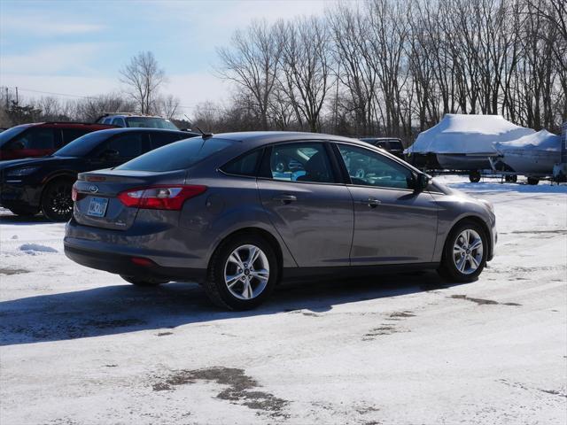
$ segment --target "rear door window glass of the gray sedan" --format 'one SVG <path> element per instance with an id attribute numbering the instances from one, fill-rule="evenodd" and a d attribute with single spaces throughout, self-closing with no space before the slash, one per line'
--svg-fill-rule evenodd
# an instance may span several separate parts
<path id="1" fill-rule="evenodd" d="M 286 143 L 272 147 L 262 174 L 287 182 L 334 183 L 330 159 L 323 143 Z M 265 175 L 268 174 L 268 175 Z"/>

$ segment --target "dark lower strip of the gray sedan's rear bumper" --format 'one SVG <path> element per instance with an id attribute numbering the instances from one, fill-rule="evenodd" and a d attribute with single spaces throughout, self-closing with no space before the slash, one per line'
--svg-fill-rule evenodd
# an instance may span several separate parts
<path id="1" fill-rule="evenodd" d="M 82 266 L 114 274 L 198 282 L 206 278 L 204 268 L 163 267 L 144 257 L 78 248 L 69 243 L 65 243 L 65 255 Z"/>

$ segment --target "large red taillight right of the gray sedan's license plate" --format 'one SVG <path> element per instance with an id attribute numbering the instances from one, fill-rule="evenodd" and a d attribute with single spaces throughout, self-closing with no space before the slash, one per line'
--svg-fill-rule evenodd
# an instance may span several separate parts
<path id="1" fill-rule="evenodd" d="M 150 186 L 120 192 L 118 198 L 123 205 L 153 210 L 181 210 L 183 203 L 206 191 L 206 186 Z"/>

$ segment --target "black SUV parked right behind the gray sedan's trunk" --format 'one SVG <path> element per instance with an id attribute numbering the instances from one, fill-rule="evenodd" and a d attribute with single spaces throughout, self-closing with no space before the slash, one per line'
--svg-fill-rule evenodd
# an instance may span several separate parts
<path id="1" fill-rule="evenodd" d="M 49 157 L 0 162 L 0 206 L 18 215 L 42 210 L 50 220 L 68 220 L 73 213 L 71 188 L 78 173 L 119 166 L 193 135 L 152 128 L 113 128 L 83 135 Z"/>

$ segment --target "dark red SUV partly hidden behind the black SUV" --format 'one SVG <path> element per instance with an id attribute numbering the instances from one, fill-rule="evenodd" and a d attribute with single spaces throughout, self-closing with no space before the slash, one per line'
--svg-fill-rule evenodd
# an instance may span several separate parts
<path id="1" fill-rule="evenodd" d="M 82 122 L 22 124 L 0 133 L 0 160 L 44 157 L 87 133 L 114 128 Z"/>

